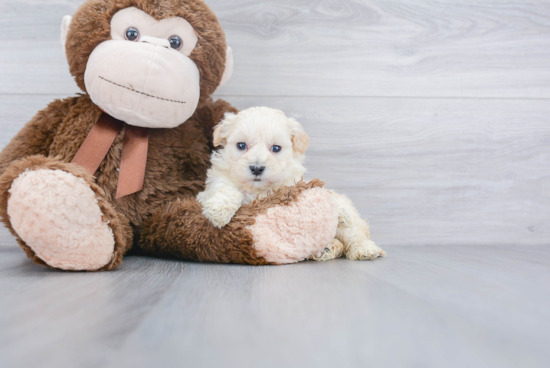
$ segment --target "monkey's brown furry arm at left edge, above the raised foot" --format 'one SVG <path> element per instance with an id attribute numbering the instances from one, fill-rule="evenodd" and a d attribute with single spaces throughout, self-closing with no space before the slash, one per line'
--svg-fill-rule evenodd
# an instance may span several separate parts
<path id="1" fill-rule="evenodd" d="M 15 160 L 38 154 L 47 156 L 55 130 L 77 100 L 78 97 L 55 100 L 36 114 L 0 153 L 0 175 Z"/>

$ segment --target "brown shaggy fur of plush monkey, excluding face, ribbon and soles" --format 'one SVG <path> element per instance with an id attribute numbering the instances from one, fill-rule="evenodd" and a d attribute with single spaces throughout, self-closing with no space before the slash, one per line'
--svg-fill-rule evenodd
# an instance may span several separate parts
<path id="1" fill-rule="evenodd" d="M 236 112 L 210 95 L 218 86 L 225 63 L 226 43 L 216 16 L 200 0 L 91 0 L 74 15 L 66 52 L 78 86 L 86 91 L 84 71 L 90 53 L 110 39 L 110 20 L 116 11 L 135 6 L 156 19 L 182 16 L 194 27 L 198 43 L 190 58 L 201 77 L 201 97 L 194 115 L 174 129 L 152 129 L 143 189 L 115 200 L 122 149 L 121 132 L 95 177 L 70 163 L 101 110 L 87 94 L 52 102 L 39 112 L 0 154 L 0 215 L 19 244 L 35 262 L 45 264 L 13 230 L 7 214 L 8 190 L 27 169 L 59 169 L 83 178 L 92 188 L 115 238 L 112 261 L 101 270 L 122 262 L 132 247 L 160 256 L 197 261 L 266 264 L 254 248 L 246 226 L 274 205 L 285 205 L 320 182 L 300 183 L 273 196 L 244 206 L 234 220 L 217 229 L 203 216 L 194 199 L 203 190 L 212 147 L 212 129 L 225 112 Z"/>

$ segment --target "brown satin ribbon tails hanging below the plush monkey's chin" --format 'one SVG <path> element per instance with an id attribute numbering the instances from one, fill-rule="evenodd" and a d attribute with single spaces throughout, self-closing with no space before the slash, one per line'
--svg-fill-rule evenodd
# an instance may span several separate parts
<path id="1" fill-rule="evenodd" d="M 117 199 L 139 192 L 143 188 L 149 146 L 149 129 L 125 124 L 123 121 L 103 113 L 72 160 L 72 162 L 84 167 L 90 174 L 95 174 L 99 165 L 107 156 L 118 133 L 124 127 L 124 140 L 122 141 L 122 155 L 120 157 L 116 191 Z"/>

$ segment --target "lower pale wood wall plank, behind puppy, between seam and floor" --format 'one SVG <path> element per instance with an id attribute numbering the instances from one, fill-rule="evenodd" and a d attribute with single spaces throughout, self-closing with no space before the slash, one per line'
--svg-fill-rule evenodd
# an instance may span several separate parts
<path id="1" fill-rule="evenodd" d="M 311 137 L 307 178 L 348 195 L 382 246 L 549 244 L 545 101 L 224 98 L 297 118 Z M 0 147 L 51 100 L 4 96 Z"/>

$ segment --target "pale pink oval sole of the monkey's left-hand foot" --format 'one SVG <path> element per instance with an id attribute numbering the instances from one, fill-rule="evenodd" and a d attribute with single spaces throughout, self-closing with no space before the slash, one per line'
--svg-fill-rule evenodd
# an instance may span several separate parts
<path id="1" fill-rule="evenodd" d="M 27 170 L 9 192 L 13 229 L 49 266 L 97 270 L 113 258 L 113 232 L 84 179 L 62 170 Z"/>

